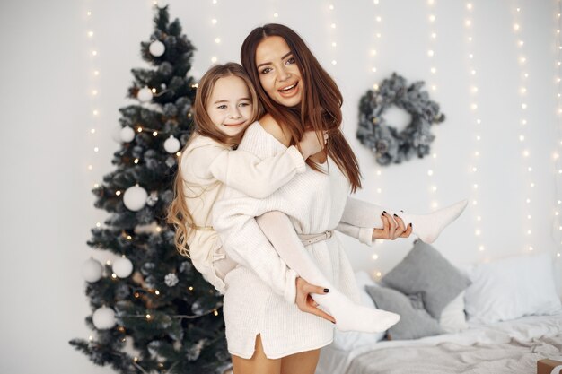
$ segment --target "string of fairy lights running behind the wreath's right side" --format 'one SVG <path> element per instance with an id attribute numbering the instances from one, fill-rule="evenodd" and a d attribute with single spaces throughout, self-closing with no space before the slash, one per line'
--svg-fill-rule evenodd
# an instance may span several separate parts
<path id="1" fill-rule="evenodd" d="M 429 22 L 429 46 L 427 48 L 427 57 L 429 58 L 429 73 L 431 80 L 429 81 L 429 89 L 432 92 L 437 91 L 437 67 L 435 66 L 435 43 L 437 39 L 436 16 L 435 16 L 435 0 L 427 0 L 427 21 Z M 437 152 L 431 153 L 431 168 L 427 170 L 427 178 L 429 183 L 429 195 L 431 196 L 431 208 L 433 210 L 439 207 L 437 200 L 437 183 L 435 182 L 435 160 Z"/>

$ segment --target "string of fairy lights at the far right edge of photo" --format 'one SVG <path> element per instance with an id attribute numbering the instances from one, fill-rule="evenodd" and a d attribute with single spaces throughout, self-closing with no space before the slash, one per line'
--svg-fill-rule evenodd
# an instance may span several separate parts
<path id="1" fill-rule="evenodd" d="M 557 110 L 556 116 L 558 119 L 558 141 L 557 141 L 557 149 L 559 150 L 562 146 L 562 44 L 560 43 L 560 33 L 562 30 L 562 1 L 555 0 L 555 7 L 556 13 L 554 15 L 554 46 L 555 46 L 555 53 L 556 53 L 556 61 L 555 61 L 555 76 L 554 76 L 554 85 L 555 85 L 555 92 L 556 92 L 556 103 L 557 103 Z M 559 197 L 559 190 L 558 187 L 560 186 L 560 178 L 562 178 L 562 166 L 560 165 L 560 153 L 559 151 L 555 151 L 552 155 L 552 161 L 554 163 L 554 169 L 556 173 L 556 183 L 555 183 L 555 192 L 556 192 L 556 204 L 553 209 L 553 221 L 555 226 L 555 234 L 554 237 L 557 240 L 558 249 L 556 251 L 557 258 L 561 258 L 562 250 L 562 222 L 560 220 L 560 204 L 562 204 L 562 200 Z"/>

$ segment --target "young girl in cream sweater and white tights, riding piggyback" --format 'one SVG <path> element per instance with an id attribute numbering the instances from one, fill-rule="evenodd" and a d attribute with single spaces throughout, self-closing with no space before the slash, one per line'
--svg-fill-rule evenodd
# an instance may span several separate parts
<path id="1" fill-rule="evenodd" d="M 305 160 L 321 152 L 324 142 L 319 142 L 316 132 L 309 131 L 303 133 L 298 147 L 289 146 L 275 156 L 260 159 L 251 152 L 233 151 L 233 146 L 241 142 L 245 129 L 261 114 L 257 93 L 238 64 L 215 65 L 209 69 L 198 85 L 194 109 L 196 130 L 181 153 L 169 222 L 176 228 L 175 241 L 180 254 L 190 257 L 206 281 L 225 293 L 224 276 L 239 262 L 225 255 L 211 223 L 211 210 L 223 196 L 224 188 L 233 187 L 255 198 L 270 196 L 296 174 L 303 173 Z M 360 236 L 364 243 L 372 243 L 373 226 L 357 228 L 354 219 L 361 217 L 342 220 L 337 230 Z M 301 240 L 310 244 L 318 238 L 298 238 L 288 218 L 279 212 L 264 213 L 258 222 L 263 224 L 266 236 L 284 260 L 275 272 L 262 276 L 268 277 L 270 282 L 277 280 L 274 291 L 294 304 L 298 275 L 320 274 L 317 265 L 299 250 Z M 390 215 L 384 217 L 382 230 L 393 230 L 396 222 L 404 226 L 398 216 L 395 219 Z M 411 230 L 410 225 L 402 237 L 408 237 Z M 287 269 L 285 263 L 294 264 L 291 267 L 298 271 Z M 327 284 L 321 285 L 326 287 Z M 332 296 L 328 289 L 321 288 L 321 292 Z M 365 308 L 336 290 L 331 292 L 333 297 L 322 299 L 325 302 L 321 302 L 321 306 L 337 314 L 336 321 L 321 310 L 315 314 L 336 322 L 341 330 L 379 332 L 398 321 L 398 316 L 393 313 Z"/>

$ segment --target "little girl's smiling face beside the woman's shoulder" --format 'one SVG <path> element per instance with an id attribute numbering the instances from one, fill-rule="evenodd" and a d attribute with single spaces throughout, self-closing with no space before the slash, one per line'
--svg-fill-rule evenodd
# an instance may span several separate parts
<path id="1" fill-rule="evenodd" d="M 240 134 L 250 125 L 252 117 L 250 91 L 237 76 L 219 78 L 206 105 L 206 112 L 225 135 Z"/>

